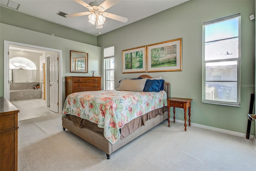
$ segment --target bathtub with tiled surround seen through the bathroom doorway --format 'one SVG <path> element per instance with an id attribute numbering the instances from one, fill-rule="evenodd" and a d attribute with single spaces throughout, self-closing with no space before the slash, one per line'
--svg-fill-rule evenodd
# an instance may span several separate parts
<path id="1" fill-rule="evenodd" d="M 10 101 L 42 98 L 42 89 L 15 89 L 10 90 Z"/>

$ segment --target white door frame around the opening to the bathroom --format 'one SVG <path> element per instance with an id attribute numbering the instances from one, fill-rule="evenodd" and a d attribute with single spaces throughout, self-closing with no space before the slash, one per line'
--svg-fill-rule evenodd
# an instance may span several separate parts
<path id="1" fill-rule="evenodd" d="M 24 48 L 36 48 L 39 50 L 45 50 L 45 51 L 54 51 L 58 53 L 59 60 L 58 60 L 58 80 L 59 80 L 59 89 L 58 89 L 58 99 L 59 99 L 59 113 L 62 112 L 62 50 L 58 49 L 52 49 L 52 48 L 45 48 L 42 46 L 35 46 L 30 44 L 23 44 L 18 42 L 11 42 L 4 40 L 4 97 L 6 99 L 10 99 L 10 84 L 9 84 L 9 70 L 10 70 L 10 64 L 9 64 L 9 46 L 23 46 Z M 46 58 L 46 57 L 45 57 Z M 47 60 L 45 60 L 47 61 Z M 47 67 L 47 65 L 46 65 Z M 47 79 L 47 76 L 46 76 Z M 48 90 L 48 87 L 46 85 L 46 91 Z M 47 96 L 47 94 L 46 94 Z M 46 97 L 47 103 L 48 103 L 48 97 Z M 46 103 L 46 104 L 47 104 Z M 50 103 L 50 102 L 49 102 Z"/>

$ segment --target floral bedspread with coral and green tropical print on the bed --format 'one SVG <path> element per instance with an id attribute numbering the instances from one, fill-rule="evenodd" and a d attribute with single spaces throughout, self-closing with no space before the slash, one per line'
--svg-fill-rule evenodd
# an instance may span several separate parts
<path id="1" fill-rule="evenodd" d="M 65 114 L 76 115 L 104 128 L 104 137 L 114 144 L 120 137 L 119 129 L 132 119 L 167 105 L 165 91 L 82 91 L 68 95 Z"/>

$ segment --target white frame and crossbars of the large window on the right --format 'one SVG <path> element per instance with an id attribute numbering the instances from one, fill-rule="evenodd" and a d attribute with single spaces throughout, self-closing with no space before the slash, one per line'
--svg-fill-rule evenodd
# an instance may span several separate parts
<path id="1" fill-rule="evenodd" d="M 238 58 L 228 58 L 228 59 L 218 59 L 218 60 L 205 60 L 205 26 L 209 24 L 215 24 L 217 22 L 223 22 L 226 20 L 231 20 L 234 18 L 238 18 Z M 231 38 L 228 38 L 231 39 Z M 217 41 L 217 40 L 215 40 Z M 212 62 L 226 62 L 226 61 L 237 61 L 237 76 L 236 76 L 236 102 L 231 101 L 220 101 L 220 100 L 210 100 L 205 99 L 206 95 L 206 82 L 228 82 L 228 81 L 207 81 L 206 80 L 206 63 Z M 234 82 L 234 81 L 230 81 Z M 215 20 L 210 20 L 203 23 L 203 35 L 202 35 L 202 103 L 211 103 L 211 104 L 218 104 L 218 105 L 230 105 L 230 106 L 238 106 L 241 105 L 241 14 L 236 13 L 229 16 L 217 18 Z"/>

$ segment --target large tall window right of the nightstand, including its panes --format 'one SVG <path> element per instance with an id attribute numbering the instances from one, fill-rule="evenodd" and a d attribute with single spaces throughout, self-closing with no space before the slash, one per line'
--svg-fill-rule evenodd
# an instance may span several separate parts
<path id="1" fill-rule="evenodd" d="M 240 106 L 240 13 L 203 23 L 202 102 Z"/>

